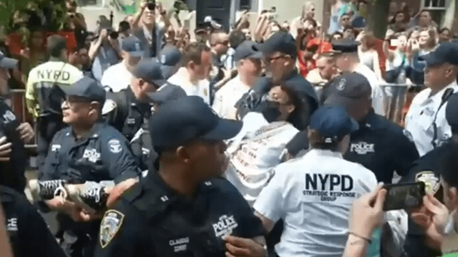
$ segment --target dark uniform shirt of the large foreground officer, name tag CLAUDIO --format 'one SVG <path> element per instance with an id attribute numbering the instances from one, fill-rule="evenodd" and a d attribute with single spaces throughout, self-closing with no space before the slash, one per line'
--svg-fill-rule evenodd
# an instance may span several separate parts
<path id="1" fill-rule="evenodd" d="M 202 183 L 190 201 L 155 171 L 124 193 L 100 228 L 97 257 L 224 257 L 224 235 L 263 235 L 260 219 L 227 180 Z"/>

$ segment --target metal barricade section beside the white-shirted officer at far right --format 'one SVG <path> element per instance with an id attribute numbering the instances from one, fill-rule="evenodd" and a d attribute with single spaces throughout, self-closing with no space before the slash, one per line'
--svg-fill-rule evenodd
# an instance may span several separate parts
<path id="1" fill-rule="evenodd" d="M 386 118 L 402 125 L 404 107 L 410 106 L 413 97 L 423 88 L 423 85 L 382 83 L 379 86 L 383 91 Z M 410 88 L 414 88 L 413 92 L 409 92 Z"/>

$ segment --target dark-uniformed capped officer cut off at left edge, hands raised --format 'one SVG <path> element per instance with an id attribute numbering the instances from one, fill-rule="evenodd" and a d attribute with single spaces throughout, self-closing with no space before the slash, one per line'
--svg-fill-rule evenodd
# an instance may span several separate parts
<path id="1" fill-rule="evenodd" d="M 31 141 L 34 132 L 29 123 L 20 123 L 2 98 L 8 93 L 9 69 L 17 63 L 0 52 L 0 184 L 24 192 L 28 159 L 24 143 Z"/>

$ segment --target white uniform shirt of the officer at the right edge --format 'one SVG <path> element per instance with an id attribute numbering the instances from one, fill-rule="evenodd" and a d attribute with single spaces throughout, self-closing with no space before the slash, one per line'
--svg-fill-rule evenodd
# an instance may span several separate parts
<path id="1" fill-rule="evenodd" d="M 439 146 L 440 143 L 452 137 L 452 129 L 445 119 L 447 103 L 438 110 L 442 102 L 442 96 L 447 88 L 453 88 L 454 92 L 457 92 L 457 82 L 453 82 L 432 96 L 430 88 L 426 88 L 418 93 L 412 100 L 412 104 L 405 117 L 405 129 L 412 135 L 420 156 L 425 155 L 434 148 L 432 145 L 434 139 L 433 123 L 436 114 L 436 145 Z"/>

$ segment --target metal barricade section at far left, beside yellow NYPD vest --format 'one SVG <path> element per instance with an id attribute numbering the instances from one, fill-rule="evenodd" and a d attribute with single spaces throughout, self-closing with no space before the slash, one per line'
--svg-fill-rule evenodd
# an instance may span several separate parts
<path id="1" fill-rule="evenodd" d="M 35 119 L 31 117 L 29 111 L 27 110 L 26 106 L 26 89 L 10 89 L 10 106 L 13 110 L 13 113 L 16 114 L 16 117 L 19 121 L 22 122 L 31 122 L 33 130 L 35 131 L 35 138 L 33 139 L 33 143 L 26 144 L 26 149 L 30 150 L 31 152 L 36 152 L 36 122 Z"/>

